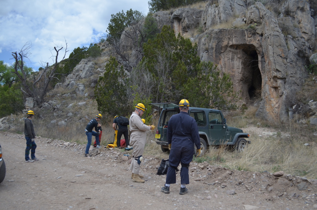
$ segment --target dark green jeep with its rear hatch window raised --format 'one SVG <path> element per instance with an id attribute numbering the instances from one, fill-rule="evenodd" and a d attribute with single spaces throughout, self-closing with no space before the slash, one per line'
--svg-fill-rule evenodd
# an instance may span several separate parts
<path id="1" fill-rule="evenodd" d="M 156 143 L 161 145 L 162 151 L 167 152 L 169 150 L 166 137 L 168 121 L 172 115 L 179 113 L 179 106 L 173 103 L 150 104 L 161 109 L 155 139 Z M 251 143 L 251 141 L 245 140 L 250 136 L 248 133 L 243 133 L 242 129 L 227 126 L 227 120 L 223 118 L 220 110 L 189 107 L 188 114 L 197 122 L 202 148 L 200 156 L 206 151 L 207 145 L 226 144 L 235 148 L 238 152 L 242 152 L 245 146 Z"/>

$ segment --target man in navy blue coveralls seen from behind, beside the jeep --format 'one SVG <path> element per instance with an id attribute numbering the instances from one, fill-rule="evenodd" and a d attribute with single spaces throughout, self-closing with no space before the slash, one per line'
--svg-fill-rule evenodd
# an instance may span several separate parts
<path id="1" fill-rule="evenodd" d="M 189 184 L 188 167 L 194 155 L 194 143 L 198 156 L 201 153 L 200 137 L 197 123 L 188 115 L 189 102 L 183 99 L 179 102 L 180 113 L 171 116 L 167 125 L 167 141 L 170 148 L 169 167 L 166 174 L 166 183 L 161 192 L 170 193 L 170 185 L 176 183 L 176 172 L 181 163 L 180 178 L 181 188 L 179 194 L 188 192 L 186 184 Z"/>

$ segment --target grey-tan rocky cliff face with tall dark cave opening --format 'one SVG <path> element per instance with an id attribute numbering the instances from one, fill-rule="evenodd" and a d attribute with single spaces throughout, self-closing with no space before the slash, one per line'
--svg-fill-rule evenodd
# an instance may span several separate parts
<path id="1" fill-rule="evenodd" d="M 186 8 L 154 16 L 160 26 L 171 25 L 182 35 L 203 26 L 205 32 L 191 38 L 198 43 L 201 60 L 231 75 L 234 88 L 241 91 L 241 104 L 261 92 L 258 117 L 288 121 L 288 108 L 307 77 L 305 65 L 316 47 L 317 22 L 309 3 L 288 0 L 276 15 L 262 3 L 219 0 L 207 3 L 204 10 Z M 213 29 L 232 18 L 236 28 Z"/>

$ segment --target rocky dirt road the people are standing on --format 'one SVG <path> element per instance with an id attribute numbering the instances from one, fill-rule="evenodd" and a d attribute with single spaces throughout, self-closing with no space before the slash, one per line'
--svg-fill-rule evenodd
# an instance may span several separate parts
<path id="1" fill-rule="evenodd" d="M 145 157 L 141 172 L 146 182 L 135 183 L 116 150 L 100 149 L 87 158 L 85 145 L 35 141 L 40 160 L 26 163 L 24 135 L 0 133 L 7 167 L 0 209 L 317 209 L 316 180 L 305 181 L 307 189 L 299 190 L 294 184 L 302 183 L 300 178 L 191 163 L 189 193 L 179 194 L 178 174 L 171 193 L 164 194 L 165 176 L 155 175 L 160 160 Z"/>

